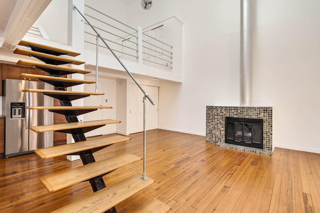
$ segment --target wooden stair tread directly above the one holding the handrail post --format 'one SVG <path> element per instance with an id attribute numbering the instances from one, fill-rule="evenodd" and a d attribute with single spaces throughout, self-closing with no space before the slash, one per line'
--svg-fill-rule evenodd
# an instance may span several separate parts
<path id="1" fill-rule="evenodd" d="M 121 154 L 74 169 L 57 172 L 40 178 L 40 181 L 48 192 L 55 192 L 96 176 L 106 174 L 125 165 L 140 161 L 141 159 L 142 158 L 131 154 Z"/>

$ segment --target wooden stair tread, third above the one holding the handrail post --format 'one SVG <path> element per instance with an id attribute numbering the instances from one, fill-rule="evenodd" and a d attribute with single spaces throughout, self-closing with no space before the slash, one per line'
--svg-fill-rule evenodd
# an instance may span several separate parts
<path id="1" fill-rule="evenodd" d="M 73 122 L 73 123 L 65 123 L 65 124 L 33 126 L 33 127 L 29 127 L 29 129 L 36 133 L 40 133 L 40 132 L 48 132 L 48 131 L 78 129 L 78 128 L 100 126 L 100 125 L 106 125 L 106 124 L 115 124 L 120 122 L 121 121 L 106 119 L 106 120 L 98 120 L 98 121 L 84 121 L 84 122 Z"/>

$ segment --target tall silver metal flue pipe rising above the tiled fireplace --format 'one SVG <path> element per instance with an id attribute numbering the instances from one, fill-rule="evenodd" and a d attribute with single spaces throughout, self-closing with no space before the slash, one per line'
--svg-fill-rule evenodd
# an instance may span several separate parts
<path id="1" fill-rule="evenodd" d="M 240 106 L 252 106 L 252 0 L 240 0 Z"/>

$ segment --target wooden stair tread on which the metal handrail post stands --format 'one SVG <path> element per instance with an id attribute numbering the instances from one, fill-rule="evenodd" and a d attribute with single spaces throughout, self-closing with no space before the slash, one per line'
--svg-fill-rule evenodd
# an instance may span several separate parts
<path id="1" fill-rule="evenodd" d="M 140 190 L 154 183 L 154 180 L 142 180 L 139 174 L 126 178 L 118 183 L 99 190 L 64 206 L 53 213 L 97 213 L 105 212 Z"/>

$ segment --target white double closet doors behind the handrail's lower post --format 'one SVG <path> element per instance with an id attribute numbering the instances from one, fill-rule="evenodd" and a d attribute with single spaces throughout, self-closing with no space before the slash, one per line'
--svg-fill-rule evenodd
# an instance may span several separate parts
<path id="1" fill-rule="evenodd" d="M 158 128 L 158 87 L 145 86 L 142 88 L 149 94 L 155 102 L 153 106 L 146 100 L 146 130 Z M 143 131 L 143 93 L 136 84 L 129 84 L 129 116 L 128 133 Z"/>

